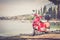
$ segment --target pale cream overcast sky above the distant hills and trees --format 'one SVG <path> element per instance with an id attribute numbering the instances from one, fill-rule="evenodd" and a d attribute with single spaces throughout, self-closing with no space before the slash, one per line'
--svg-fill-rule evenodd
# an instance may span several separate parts
<path id="1" fill-rule="evenodd" d="M 2 1 L 0 3 L 0 16 L 32 14 L 32 10 L 40 10 L 44 5 L 50 3 L 48 0 Z"/>

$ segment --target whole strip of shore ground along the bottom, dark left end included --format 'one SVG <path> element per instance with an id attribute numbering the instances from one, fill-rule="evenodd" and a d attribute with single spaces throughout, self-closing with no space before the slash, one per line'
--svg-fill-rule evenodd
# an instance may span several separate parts
<path id="1" fill-rule="evenodd" d="M 36 36 L 0 37 L 0 40 L 60 40 L 60 34 L 43 34 Z"/>

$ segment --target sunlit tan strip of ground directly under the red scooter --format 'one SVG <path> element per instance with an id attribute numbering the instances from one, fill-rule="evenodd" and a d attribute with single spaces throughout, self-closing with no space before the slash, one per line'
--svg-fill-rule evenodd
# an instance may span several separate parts
<path id="1" fill-rule="evenodd" d="M 20 38 L 60 38 L 60 34 L 43 34 L 36 36 L 21 36 Z"/>

